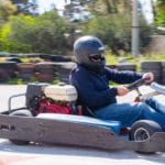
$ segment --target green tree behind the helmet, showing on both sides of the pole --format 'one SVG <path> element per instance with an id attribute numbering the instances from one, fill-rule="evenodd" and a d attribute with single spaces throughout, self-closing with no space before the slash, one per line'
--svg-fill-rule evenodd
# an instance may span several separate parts
<path id="1" fill-rule="evenodd" d="M 84 33 L 100 37 L 111 51 L 119 55 L 120 52 L 131 51 L 131 21 L 130 14 L 109 14 L 94 18 L 85 26 Z M 150 42 L 151 30 L 141 18 L 141 48 L 143 50 Z"/>

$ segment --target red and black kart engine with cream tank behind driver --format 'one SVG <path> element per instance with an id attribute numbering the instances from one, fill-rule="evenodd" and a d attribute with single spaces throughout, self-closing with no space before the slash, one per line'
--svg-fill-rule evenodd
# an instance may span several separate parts
<path id="1" fill-rule="evenodd" d="M 38 113 L 81 114 L 76 108 L 77 91 L 72 85 L 29 84 L 26 108 Z"/>

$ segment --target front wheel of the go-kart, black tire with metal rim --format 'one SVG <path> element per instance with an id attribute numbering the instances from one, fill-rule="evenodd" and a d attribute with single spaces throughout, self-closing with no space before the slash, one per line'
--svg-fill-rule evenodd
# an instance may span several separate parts
<path id="1" fill-rule="evenodd" d="M 162 132 L 161 125 L 151 120 L 140 120 L 136 121 L 129 133 L 130 141 L 145 141 L 148 140 L 155 132 Z M 153 154 L 154 152 L 142 152 L 139 153 Z"/>

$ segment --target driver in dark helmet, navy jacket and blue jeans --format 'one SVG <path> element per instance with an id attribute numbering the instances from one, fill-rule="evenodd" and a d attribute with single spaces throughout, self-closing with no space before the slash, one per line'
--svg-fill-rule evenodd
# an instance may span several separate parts
<path id="1" fill-rule="evenodd" d="M 98 118 L 120 121 L 130 127 L 138 120 L 157 122 L 165 131 L 165 113 L 163 105 L 147 98 L 144 102 L 118 103 L 117 96 L 127 95 L 130 89 L 124 84 L 147 77 L 146 84 L 153 81 L 152 73 L 118 72 L 106 67 L 105 45 L 95 36 L 81 36 L 74 44 L 77 67 L 72 72 L 70 84 L 78 91 L 78 101 L 88 107 Z M 123 84 L 109 86 L 110 81 Z"/>

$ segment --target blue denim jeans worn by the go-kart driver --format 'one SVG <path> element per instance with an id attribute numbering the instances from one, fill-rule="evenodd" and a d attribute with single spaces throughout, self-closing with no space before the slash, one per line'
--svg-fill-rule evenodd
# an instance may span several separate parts
<path id="1" fill-rule="evenodd" d="M 120 121 L 122 127 L 130 127 L 136 120 L 153 120 L 165 131 L 165 106 L 154 98 L 144 102 L 111 103 L 95 112 L 98 118 Z"/>

